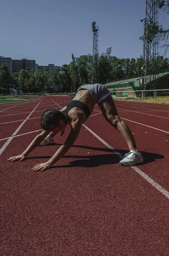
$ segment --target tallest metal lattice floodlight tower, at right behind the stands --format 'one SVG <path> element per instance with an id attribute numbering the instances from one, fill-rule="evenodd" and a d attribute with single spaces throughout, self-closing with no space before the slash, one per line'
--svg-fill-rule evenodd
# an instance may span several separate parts
<path id="1" fill-rule="evenodd" d="M 146 0 L 146 16 L 140 19 L 144 21 L 144 44 L 143 44 L 143 76 L 144 90 L 158 87 L 158 6 L 156 0 Z"/>

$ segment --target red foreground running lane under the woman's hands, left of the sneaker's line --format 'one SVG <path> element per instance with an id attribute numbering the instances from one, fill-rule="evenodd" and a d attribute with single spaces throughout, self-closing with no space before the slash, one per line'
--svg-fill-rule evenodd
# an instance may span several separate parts
<path id="1" fill-rule="evenodd" d="M 57 136 L 56 145 L 36 148 L 24 162 L 6 158 L 13 146 L 22 152 L 33 134 L 14 138 L 4 151 L 4 255 L 167 256 L 168 199 L 130 167 L 120 166 L 119 157 L 85 128 L 50 170 L 31 171 L 68 133 Z"/>

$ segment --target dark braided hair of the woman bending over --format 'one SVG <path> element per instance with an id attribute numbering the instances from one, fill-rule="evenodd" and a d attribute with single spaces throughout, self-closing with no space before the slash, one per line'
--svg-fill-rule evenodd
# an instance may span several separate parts
<path id="1" fill-rule="evenodd" d="M 55 128 L 60 126 L 59 125 L 60 120 L 63 120 L 63 122 L 67 124 L 67 118 L 65 114 L 63 114 L 61 111 L 56 110 L 54 108 L 47 109 L 46 111 L 43 112 L 41 116 L 41 128 L 44 131 L 52 131 Z M 63 129 L 61 136 L 63 135 L 64 131 L 65 131 L 65 128 Z"/>

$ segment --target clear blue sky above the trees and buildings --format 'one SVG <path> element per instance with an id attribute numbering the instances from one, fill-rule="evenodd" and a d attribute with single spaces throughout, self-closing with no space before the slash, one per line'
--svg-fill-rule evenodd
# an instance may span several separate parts
<path id="1" fill-rule="evenodd" d="M 62 66 L 92 54 L 92 22 L 99 26 L 99 53 L 117 58 L 143 55 L 146 0 L 1 0 L 0 55 Z M 169 26 L 160 12 L 159 23 Z M 169 57 L 167 53 L 166 57 Z"/>

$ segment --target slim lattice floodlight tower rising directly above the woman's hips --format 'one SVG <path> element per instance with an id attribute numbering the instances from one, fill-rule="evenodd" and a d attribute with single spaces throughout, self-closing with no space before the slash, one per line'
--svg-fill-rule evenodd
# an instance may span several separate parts
<path id="1" fill-rule="evenodd" d="M 92 60 L 92 84 L 99 82 L 99 26 L 92 23 L 93 31 L 93 60 Z"/>

